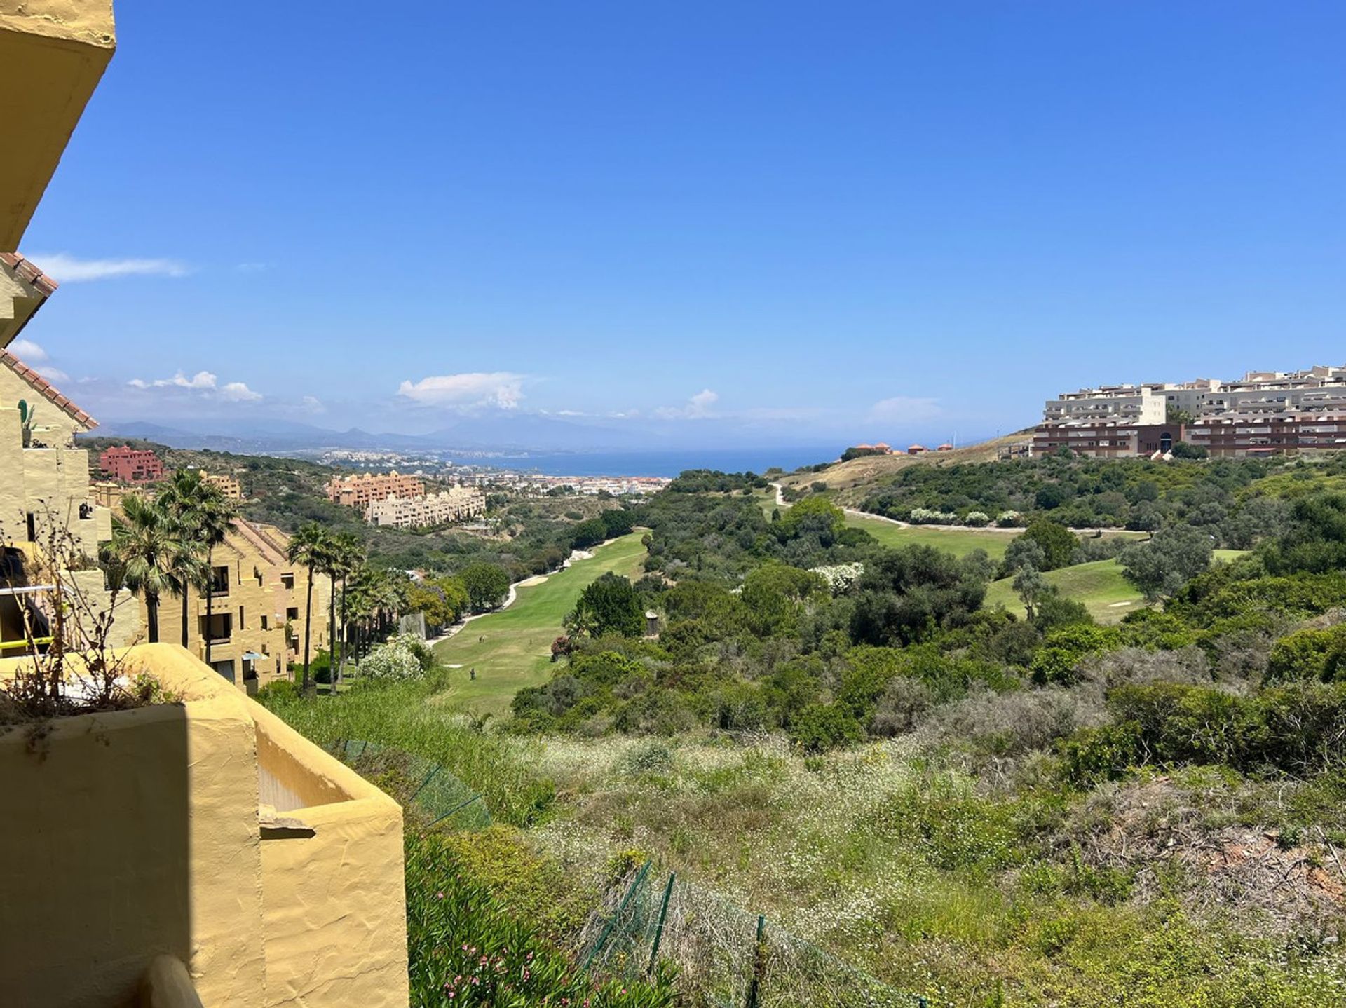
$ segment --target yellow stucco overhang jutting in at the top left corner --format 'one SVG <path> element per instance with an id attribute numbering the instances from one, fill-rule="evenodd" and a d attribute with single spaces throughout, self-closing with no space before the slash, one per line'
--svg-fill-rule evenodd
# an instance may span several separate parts
<path id="1" fill-rule="evenodd" d="M 0 252 L 13 252 L 116 46 L 110 0 L 0 0 Z M 58 277 L 59 279 L 59 277 Z"/>

